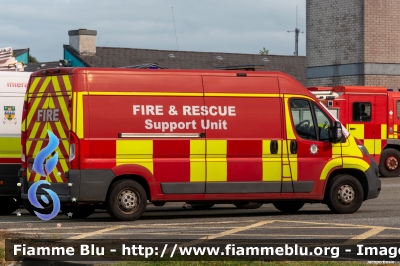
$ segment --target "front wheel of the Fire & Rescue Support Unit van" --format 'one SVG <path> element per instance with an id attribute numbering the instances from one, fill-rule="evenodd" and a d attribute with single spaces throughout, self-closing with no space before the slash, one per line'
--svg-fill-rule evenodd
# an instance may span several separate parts
<path id="1" fill-rule="evenodd" d="M 333 177 L 325 193 L 326 203 L 334 213 L 354 213 L 364 200 L 364 190 L 360 181 L 351 175 Z"/>

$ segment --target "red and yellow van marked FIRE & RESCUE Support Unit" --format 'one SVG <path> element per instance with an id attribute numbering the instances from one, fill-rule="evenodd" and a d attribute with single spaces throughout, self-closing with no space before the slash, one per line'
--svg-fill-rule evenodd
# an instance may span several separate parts
<path id="1" fill-rule="evenodd" d="M 353 213 L 381 190 L 362 144 L 280 72 L 47 69 L 23 118 L 22 198 L 47 180 L 74 215 L 135 220 L 148 200 Z"/>

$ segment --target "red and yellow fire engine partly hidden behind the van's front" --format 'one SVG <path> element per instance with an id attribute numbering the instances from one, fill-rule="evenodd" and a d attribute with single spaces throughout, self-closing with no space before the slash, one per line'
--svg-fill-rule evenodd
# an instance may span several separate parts
<path id="1" fill-rule="evenodd" d="M 382 176 L 400 175 L 400 93 L 384 87 L 336 86 L 309 90 L 379 162 Z"/>

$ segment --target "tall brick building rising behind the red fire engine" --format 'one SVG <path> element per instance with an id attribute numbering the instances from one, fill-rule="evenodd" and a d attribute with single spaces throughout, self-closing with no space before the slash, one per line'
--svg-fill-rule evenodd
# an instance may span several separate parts
<path id="1" fill-rule="evenodd" d="M 400 88 L 399 0 L 306 0 L 307 86 Z"/>

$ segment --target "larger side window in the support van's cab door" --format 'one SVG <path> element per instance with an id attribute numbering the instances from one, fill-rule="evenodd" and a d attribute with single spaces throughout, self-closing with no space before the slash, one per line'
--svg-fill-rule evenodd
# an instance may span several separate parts
<path id="1" fill-rule="evenodd" d="M 310 102 L 307 100 L 290 100 L 290 111 L 293 124 L 299 137 L 316 140 L 317 134 L 314 127 L 314 119 L 311 113 Z"/>

